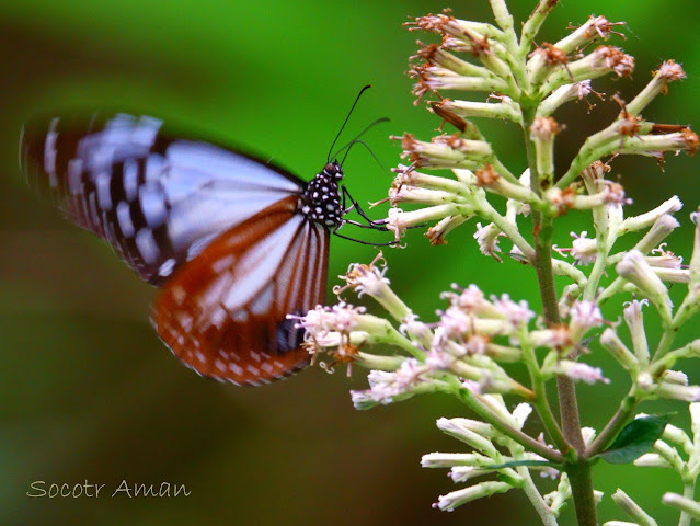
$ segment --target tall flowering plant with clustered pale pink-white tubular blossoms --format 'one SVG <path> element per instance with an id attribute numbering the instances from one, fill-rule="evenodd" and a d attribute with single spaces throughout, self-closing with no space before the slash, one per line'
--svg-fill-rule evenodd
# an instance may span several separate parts
<path id="1" fill-rule="evenodd" d="M 553 117 L 556 110 L 586 100 L 590 112 L 595 105 L 587 99 L 604 100 L 593 88 L 595 79 L 626 78 L 634 68 L 634 58 L 608 42 L 621 36 L 621 23 L 604 16 L 590 16 L 559 42 L 533 45 L 556 3 L 540 0 L 520 34 L 503 0 L 491 0 L 495 24 L 460 20 L 450 11 L 406 24 L 410 31 L 439 37 L 436 43 L 417 42 L 409 75 L 415 80 L 416 105 L 427 100 L 427 110 L 443 126 L 439 135 L 427 139 L 410 133 L 392 137 L 401 144 L 404 163 L 393 169 L 395 179 L 382 199 L 391 204 L 383 224 L 397 244 L 412 227 L 429 225 L 426 237 L 439 245 L 448 235 L 455 238 L 458 227 L 472 225 L 482 254 L 504 265 L 529 265 L 539 285 L 541 312 L 507 294 L 486 294 L 475 284 L 452 285 L 443 294 L 446 304 L 436 318 L 423 321 L 392 289 L 380 255 L 370 264 L 351 265 L 342 276 L 345 285 L 335 293 L 338 298 L 346 293 L 370 298 L 385 315 L 341 298 L 336 306 L 319 307 L 297 322 L 307 330 L 314 355 L 330 353 L 335 362 L 352 361 L 370 369 L 368 388 L 352 392 L 356 408 L 439 391 L 457 397 L 477 414 L 479 420 L 438 421 L 440 430 L 473 450 L 423 458 L 423 466 L 448 467 L 452 480 L 468 483 L 440 496 L 438 508 L 451 511 L 515 488 L 525 492 L 547 526 L 558 524 L 570 500 L 579 526 L 594 526 L 603 496 L 592 483 L 595 460 L 632 461 L 663 431 L 663 425 L 652 425 L 654 419 L 633 421 L 636 407 L 655 398 L 700 401 L 700 387 L 676 367 L 681 358 L 700 357 L 700 339 L 676 342 L 679 328 L 700 311 L 700 216 L 690 214 L 695 249 L 684 264 L 667 244 L 680 227 L 674 217 L 682 208 L 680 199 L 670 197 L 640 215 L 627 213 L 632 201 L 612 174 L 613 161 L 621 155 L 640 155 L 662 162 L 666 152 L 695 153 L 700 142 L 688 126 L 642 116 L 672 82 L 686 77 L 680 65 L 667 60 L 629 102 L 615 95 L 617 117 L 590 135 L 569 165 L 555 167 L 555 139 L 567 132 Z M 480 101 L 467 100 L 480 94 Z M 477 118 L 507 119 L 521 127 L 527 170 L 513 173 L 502 162 L 472 121 Z M 454 129 L 443 132 L 445 126 Z M 433 171 L 437 172 L 426 173 Z M 561 241 L 554 244 L 553 225 L 565 214 L 586 215 L 590 226 L 572 232 L 571 245 L 561 247 Z M 561 279 L 555 282 L 555 276 Z M 678 284 L 682 295 L 677 305 L 669 296 L 670 284 Z M 606 319 L 600 306 L 613 297 L 624 307 Z M 650 309 L 662 331 L 658 341 L 647 338 L 650 322 L 643 310 Z M 376 344 L 394 352 L 376 353 Z M 576 385 L 607 389 L 609 375 L 595 365 L 601 352 L 610 353 L 629 375 L 630 386 L 596 434 L 581 426 Z M 548 387 L 553 382 L 560 418 L 550 404 Z M 506 400 L 517 403 L 513 411 Z M 524 431 L 531 411 L 541 427 L 535 435 Z M 699 411 L 693 403 L 695 434 Z M 664 445 L 668 442 L 690 459 L 679 460 L 675 449 Z M 700 472 L 696 442 L 695 435 L 691 441 L 680 430 L 666 427 L 653 453 L 639 458 L 638 465 L 670 467 L 689 488 Z M 556 490 L 540 493 L 530 478 L 532 470 L 555 478 Z M 497 480 L 477 480 L 489 474 Z M 688 510 L 700 505 L 687 493 L 665 499 L 692 515 Z M 612 499 L 634 524 L 653 524 L 622 490 Z M 688 524 L 686 515 L 680 524 Z"/>

